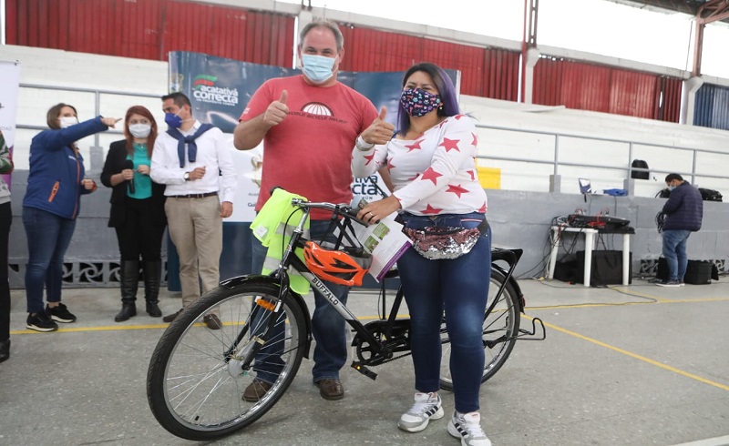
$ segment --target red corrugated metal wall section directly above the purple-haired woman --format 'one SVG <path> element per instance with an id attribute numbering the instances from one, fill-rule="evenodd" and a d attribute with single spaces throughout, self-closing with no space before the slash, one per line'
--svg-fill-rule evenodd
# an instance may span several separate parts
<path id="1" fill-rule="evenodd" d="M 418 62 L 433 62 L 461 71 L 461 93 L 516 101 L 519 53 L 340 26 L 344 35 L 344 71 L 405 71 Z"/>

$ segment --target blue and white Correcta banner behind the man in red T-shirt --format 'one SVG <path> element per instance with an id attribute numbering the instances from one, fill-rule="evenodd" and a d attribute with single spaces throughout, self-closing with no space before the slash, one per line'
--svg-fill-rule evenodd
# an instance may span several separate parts
<path id="1" fill-rule="evenodd" d="M 293 76 L 301 70 L 280 66 L 264 66 L 200 53 L 173 51 L 169 53 L 169 91 L 181 91 L 190 96 L 193 116 L 201 122 L 219 127 L 232 134 L 246 104 L 268 79 Z M 447 70 L 459 85 L 460 73 Z M 403 72 L 340 72 L 337 79 L 366 96 L 380 109 L 387 108 L 386 120 L 395 124 L 402 92 Z M 458 91 L 458 87 L 457 87 Z M 263 159 L 262 146 L 239 151 L 232 148 L 238 170 L 238 189 L 233 203 L 233 215 L 226 221 L 250 222 L 260 188 Z M 382 198 L 385 184 L 379 175 L 356 178 L 352 184 L 355 198 L 369 201 Z"/>

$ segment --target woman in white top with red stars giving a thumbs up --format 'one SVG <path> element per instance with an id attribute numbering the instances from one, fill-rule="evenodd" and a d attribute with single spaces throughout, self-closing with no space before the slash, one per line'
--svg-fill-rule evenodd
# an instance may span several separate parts
<path id="1" fill-rule="evenodd" d="M 437 235 L 438 228 L 459 228 L 470 241 L 470 246 L 464 242 L 435 253 L 411 247 L 397 261 L 410 311 L 416 374 L 415 404 L 397 426 L 423 431 L 428 421 L 444 415 L 437 391 L 445 310 L 456 406 L 447 431 L 464 445 L 490 445 L 478 412 L 491 232 L 485 215 L 486 192 L 477 178 L 476 126 L 471 117 L 460 113 L 456 89 L 447 74 L 428 63 L 406 72 L 395 137 L 384 115 L 383 111 L 358 138 L 352 167 L 355 177 L 388 167 L 394 191 L 367 204 L 358 217 L 376 223 L 399 212 L 406 233 L 413 238 L 443 237 Z"/>

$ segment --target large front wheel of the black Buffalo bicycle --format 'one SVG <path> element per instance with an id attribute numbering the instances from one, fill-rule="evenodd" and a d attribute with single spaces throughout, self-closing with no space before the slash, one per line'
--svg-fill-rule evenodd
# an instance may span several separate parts
<path id="1" fill-rule="evenodd" d="M 253 303 L 266 299 L 268 309 Z M 261 300 L 260 300 L 261 301 Z M 242 370 L 245 347 L 252 345 L 268 316 L 269 303 L 278 302 L 278 287 L 251 282 L 232 289 L 217 288 L 185 309 L 160 338 L 147 375 L 149 408 L 159 424 L 180 438 L 193 441 L 218 439 L 240 431 L 269 411 L 288 389 L 301 365 L 309 333 L 298 301 L 283 299 L 282 336 L 269 345 L 282 347 L 283 369 L 260 400 L 248 402 L 242 393 L 255 378 L 255 361 Z M 221 329 L 208 329 L 200 318 L 210 310 L 221 315 Z M 253 315 L 258 315 L 254 318 Z M 239 339 L 240 341 L 236 341 Z M 233 346 L 236 346 L 233 348 Z M 234 355 L 226 355 L 234 351 Z M 237 356 L 236 355 L 239 355 Z M 257 359 L 261 359 L 259 353 Z M 262 360 L 262 362 L 265 362 Z"/>

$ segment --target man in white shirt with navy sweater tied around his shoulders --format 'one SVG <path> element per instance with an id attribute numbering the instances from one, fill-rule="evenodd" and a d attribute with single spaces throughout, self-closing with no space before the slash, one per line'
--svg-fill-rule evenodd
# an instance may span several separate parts
<path id="1" fill-rule="evenodd" d="M 150 177 L 167 185 L 165 213 L 169 237 L 180 256 L 182 307 L 218 286 L 222 251 L 222 218 L 233 211 L 238 182 L 230 148 L 221 130 L 192 117 L 190 99 L 182 93 L 162 96 L 169 129 L 160 133 L 152 151 Z M 182 312 L 165 316 L 171 322 Z M 220 329 L 219 315 L 203 318 Z"/>

